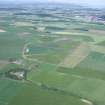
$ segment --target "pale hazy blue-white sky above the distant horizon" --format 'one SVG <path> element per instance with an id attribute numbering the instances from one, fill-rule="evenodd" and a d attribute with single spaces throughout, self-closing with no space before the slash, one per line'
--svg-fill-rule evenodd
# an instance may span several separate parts
<path id="1" fill-rule="evenodd" d="M 60 2 L 60 3 L 74 3 L 93 7 L 105 7 L 105 0 L 0 0 L 2 1 L 12 1 L 12 2 Z"/>

